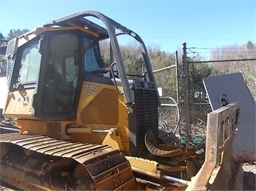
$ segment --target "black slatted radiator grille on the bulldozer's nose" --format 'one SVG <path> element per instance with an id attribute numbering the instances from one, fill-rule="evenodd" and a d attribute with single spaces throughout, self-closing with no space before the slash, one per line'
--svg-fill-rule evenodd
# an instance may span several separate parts
<path id="1" fill-rule="evenodd" d="M 145 151 L 144 138 L 148 129 L 153 131 L 154 137 L 158 141 L 157 90 L 154 89 L 154 86 L 150 87 L 137 87 L 135 89 L 136 121 L 138 127 L 137 149 L 139 154 Z"/>

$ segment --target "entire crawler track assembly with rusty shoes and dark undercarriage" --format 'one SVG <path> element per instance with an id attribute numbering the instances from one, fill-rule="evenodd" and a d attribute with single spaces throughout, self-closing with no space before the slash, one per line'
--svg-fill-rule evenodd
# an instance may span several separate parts
<path id="1" fill-rule="evenodd" d="M 1 180 L 22 190 L 132 190 L 130 163 L 108 145 L 0 135 Z"/>

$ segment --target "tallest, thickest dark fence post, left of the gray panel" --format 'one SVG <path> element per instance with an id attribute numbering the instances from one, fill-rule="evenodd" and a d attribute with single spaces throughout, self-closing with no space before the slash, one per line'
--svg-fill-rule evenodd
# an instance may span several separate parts
<path id="1" fill-rule="evenodd" d="M 189 108 L 189 67 L 187 62 L 187 47 L 183 43 L 183 92 L 184 92 L 184 119 L 185 119 L 185 134 L 186 146 L 189 145 L 190 140 L 190 108 Z"/>

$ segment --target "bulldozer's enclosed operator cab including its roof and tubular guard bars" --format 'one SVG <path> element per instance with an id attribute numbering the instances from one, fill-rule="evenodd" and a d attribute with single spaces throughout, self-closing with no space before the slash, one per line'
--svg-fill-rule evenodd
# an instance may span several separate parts
<path id="1" fill-rule="evenodd" d="M 100 20 L 105 28 L 87 17 Z M 8 103 L 5 113 L 17 116 L 20 112 L 24 117 L 45 119 L 74 119 L 82 81 L 88 78 L 105 84 L 112 81 L 109 84 L 114 84 L 117 94 L 124 93 L 126 105 L 132 111 L 135 98 L 130 88 L 132 80 L 127 77 L 117 40 L 120 35 L 129 35 L 138 41 L 147 81 L 155 84 L 142 39 L 97 11 L 82 11 L 53 20 L 8 43 L 8 86 L 20 101 Z M 99 48 L 99 42 L 106 39 L 109 39 L 111 46 L 108 69 L 103 66 Z M 109 78 L 99 77 L 103 74 Z M 139 78 L 145 80 L 142 74 Z M 122 87 L 121 91 L 118 86 Z M 96 90 L 97 87 L 91 85 L 88 88 Z M 28 104 L 30 107 L 26 110 L 19 107 Z"/>

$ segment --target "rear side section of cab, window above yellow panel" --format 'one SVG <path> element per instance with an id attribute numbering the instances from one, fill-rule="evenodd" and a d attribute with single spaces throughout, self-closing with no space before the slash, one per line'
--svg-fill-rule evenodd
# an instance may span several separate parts
<path id="1" fill-rule="evenodd" d="M 7 95 L 4 114 L 7 116 L 31 116 L 34 113 L 32 102 L 39 74 L 41 54 L 39 38 L 17 49 L 11 72 L 11 83 Z"/>

